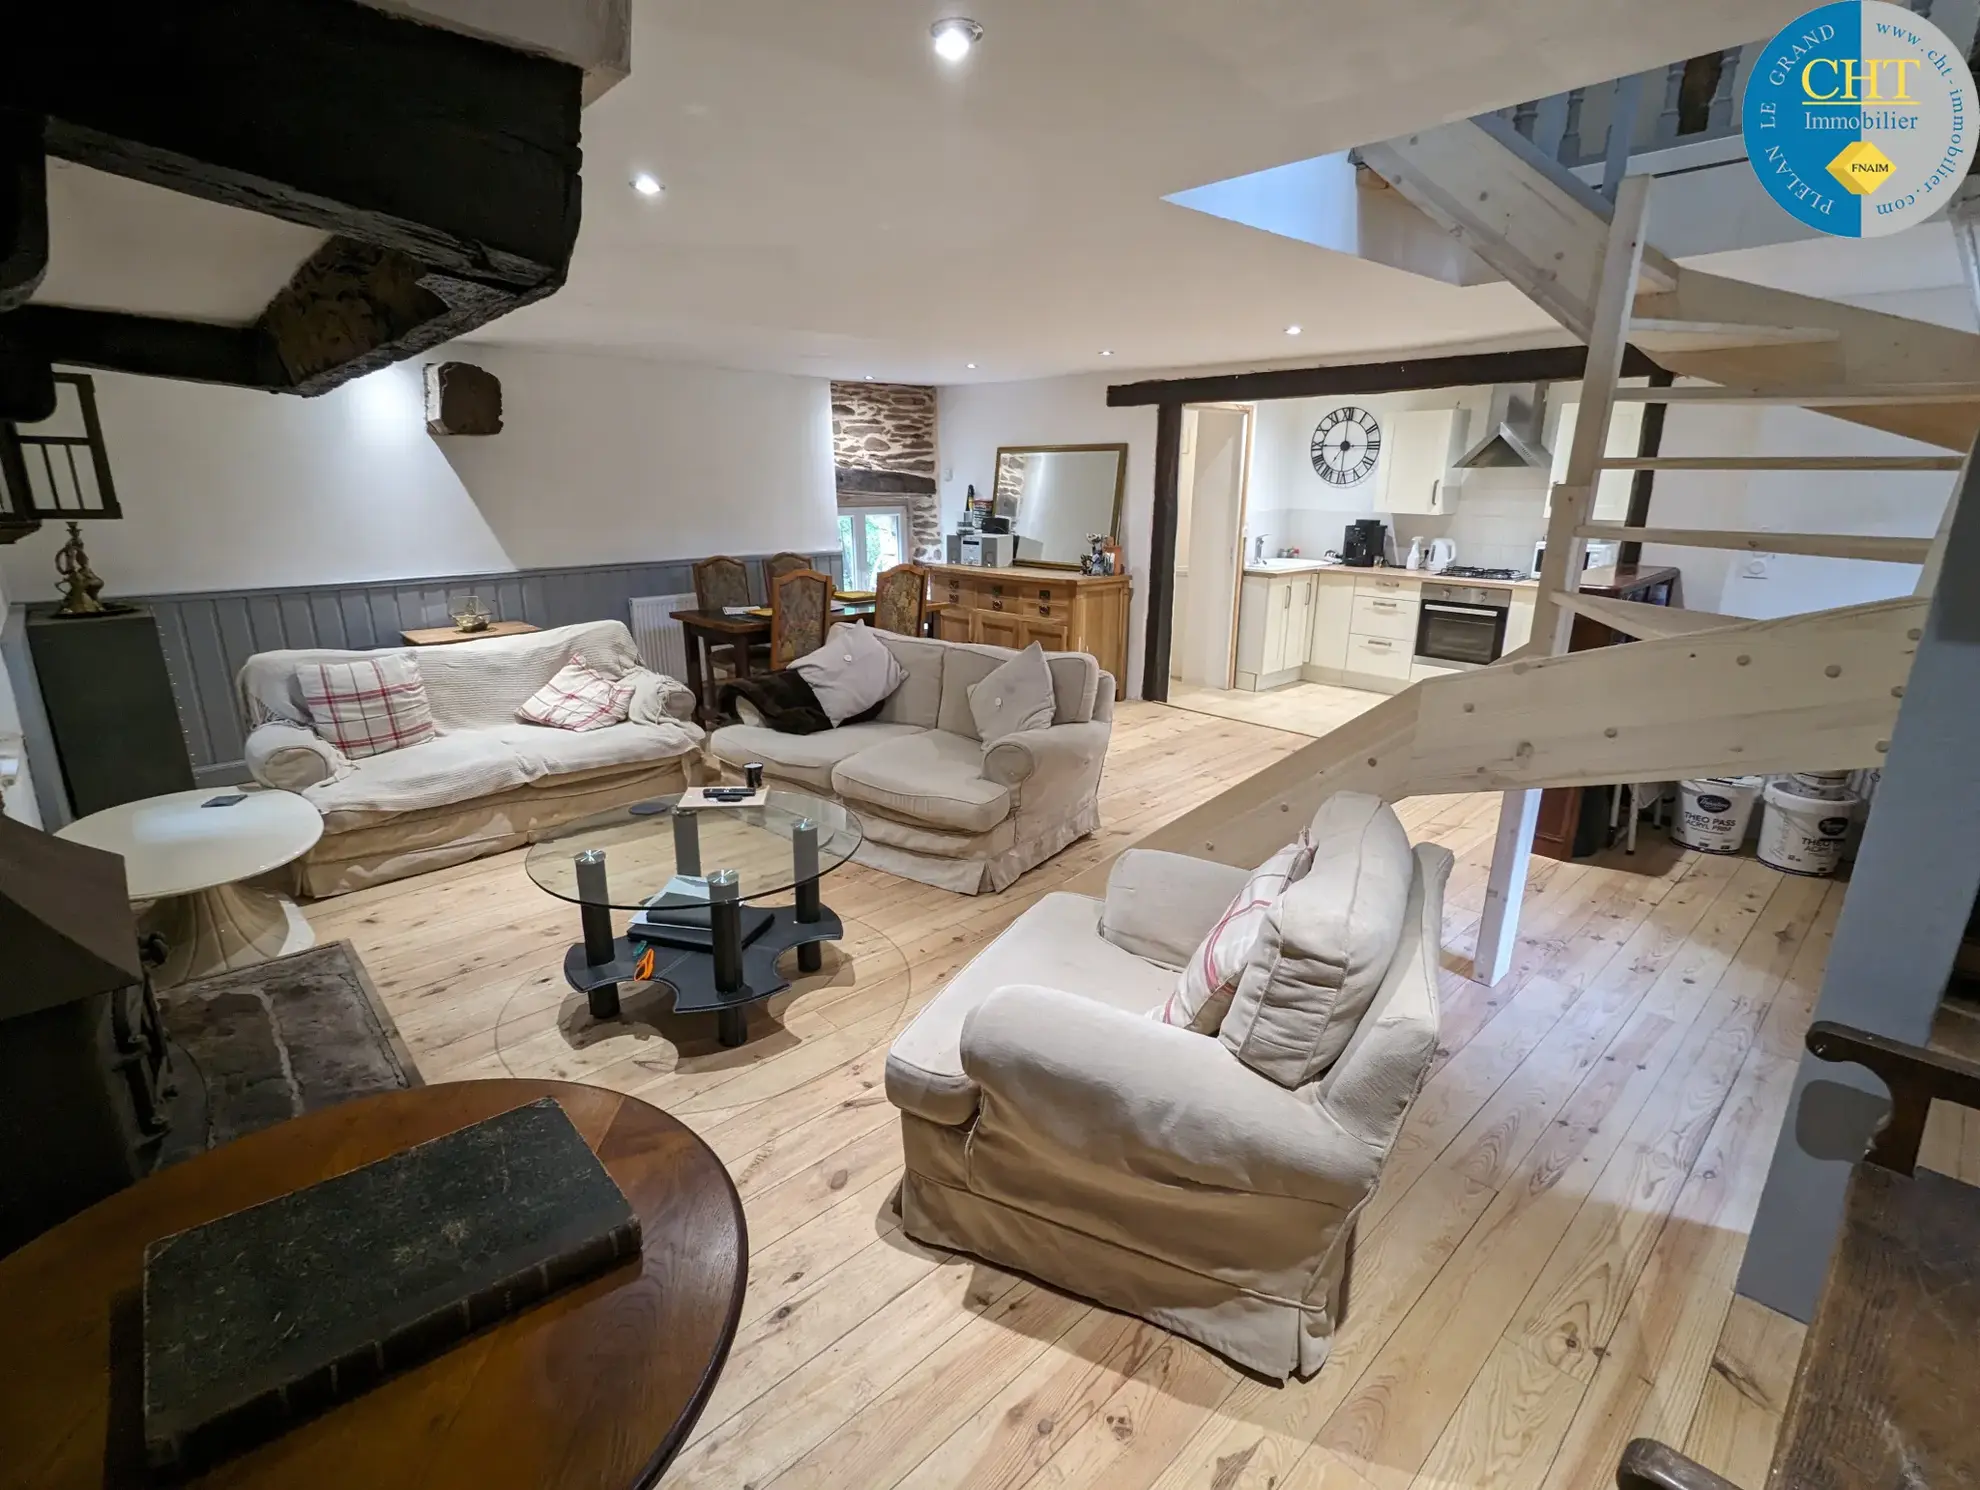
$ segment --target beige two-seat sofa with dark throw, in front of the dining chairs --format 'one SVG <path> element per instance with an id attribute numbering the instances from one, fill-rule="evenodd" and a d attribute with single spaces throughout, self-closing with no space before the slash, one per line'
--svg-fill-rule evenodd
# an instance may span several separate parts
<path id="1" fill-rule="evenodd" d="M 1051 726 L 984 750 L 968 691 L 1014 653 L 875 631 L 903 681 L 867 724 L 778 734 L 725 724 L 709 754 L 725 776 L 762 762 L 772 784 L 838 797 L 865 829 L 857 859 L 944 890 L 1002 890 L 1101 825 L 1113 677 L 1087 653 L 1047 653 Z"/>

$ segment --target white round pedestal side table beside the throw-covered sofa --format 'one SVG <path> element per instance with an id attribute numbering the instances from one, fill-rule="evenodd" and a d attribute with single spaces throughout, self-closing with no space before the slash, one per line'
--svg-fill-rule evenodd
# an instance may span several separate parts
<path id="1" fill-rule="evenodd" d="M 208 805 L 234 795 L 232 805 Z M 293 900 L 242 885 L 301 859 L 323 837 L 323 813 L 293 792 L 172 792 L 89 813 L 55 837 L 125 861 L 131 900 L 152 902 L 143 926 L 168 948 L 156 983 L 249 968 L 317 942 Z"/>

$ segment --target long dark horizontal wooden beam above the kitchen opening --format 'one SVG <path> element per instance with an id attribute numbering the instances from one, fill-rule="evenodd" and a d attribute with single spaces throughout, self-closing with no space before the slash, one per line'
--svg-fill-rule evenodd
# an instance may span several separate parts
<path id="1" fill-rule="evenodd" d="M 1586 346 L 1540 346 L 1523 352 L 1467 352 L 1463 356 L 1412 356 L 1394 362 L 1348 362 L 1327 368 L 1275 368 L 1226 372 L 1208 378 L 1150 378 L 1107 390 L 1111 408 L 1150 404 L 1253 404 L 1265 398 L 1346 398 L 1400 394 L 1416 388 L 1471 388 L 1509 382 L 1570 382 L 1588 366 Z M 1657 370 L 1637 348 L 1624 352 L 1622 376 L 1647 378 Z"/>

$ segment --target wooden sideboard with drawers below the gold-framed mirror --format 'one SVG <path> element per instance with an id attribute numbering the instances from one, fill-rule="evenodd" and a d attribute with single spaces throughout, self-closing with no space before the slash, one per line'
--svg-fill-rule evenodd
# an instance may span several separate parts
<path id="1" fill-rule="evenodd" d="M 1085 651 L 1113 673 L 1115 698 L 1127 697 L 1129 576 L 972 564 L 931 564 L 929 574 L 929 598 L 948 602 L 937 621 L 942 641 Z"/>

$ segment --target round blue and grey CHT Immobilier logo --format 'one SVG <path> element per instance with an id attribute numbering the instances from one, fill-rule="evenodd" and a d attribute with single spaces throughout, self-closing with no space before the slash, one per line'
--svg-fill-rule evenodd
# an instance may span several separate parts
<path id="1" fill-rule="evenodd" d="M 1925 222 L 1966 176 L 1974 79 L 1903 6 L 1843 0 L 1766 44 L 1746 77 L 1746 154 L 1812 228 L 1879 237 Z"/>

